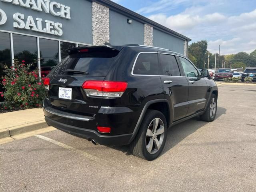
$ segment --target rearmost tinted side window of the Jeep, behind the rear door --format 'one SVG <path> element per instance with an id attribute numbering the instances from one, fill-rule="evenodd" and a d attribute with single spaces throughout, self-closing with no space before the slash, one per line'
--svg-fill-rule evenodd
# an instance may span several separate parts
<path id="1" fill-rule="evenodd" d="M 158 54 L 141 53 L 137 58 L 133 73 L 139 75 L 158 75 Z"/>

